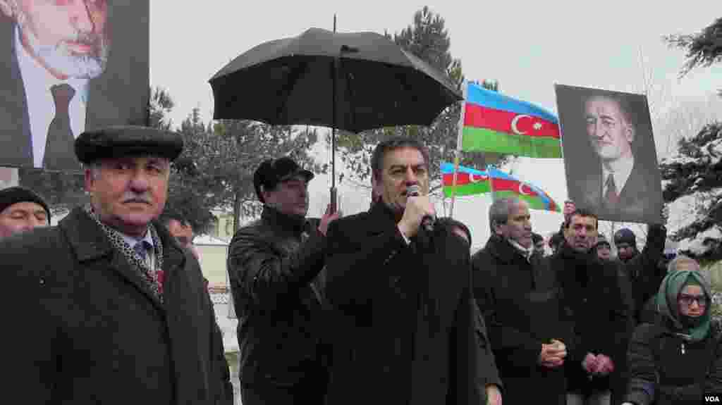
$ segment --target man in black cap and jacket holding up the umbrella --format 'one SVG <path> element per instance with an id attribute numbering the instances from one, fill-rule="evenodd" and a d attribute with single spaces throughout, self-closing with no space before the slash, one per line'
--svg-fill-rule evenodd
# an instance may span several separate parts
<path id="1" fill-rule="evenodd" d="M 241 398 L 245 405 L 321 404 L 327 373 L 321 347 L 326 230 L 338 213 L 307 221 L 313 173 L 288 157 L 253 174 L 264 210 L 235 233 L 230 276 L 238 316 Z"/>

